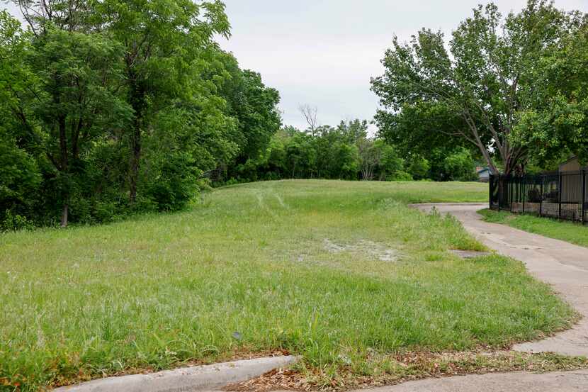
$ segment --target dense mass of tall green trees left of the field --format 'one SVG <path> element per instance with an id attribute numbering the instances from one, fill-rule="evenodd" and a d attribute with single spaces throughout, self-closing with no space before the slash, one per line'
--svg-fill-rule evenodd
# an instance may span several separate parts
<path id="1" fill-rule="evenodd" d="M 0 218 L 179 210 L 204 177 L 259 157 L 281 125 L 278 91 L 215 43 L 230 28 L 220 1 L 23 10 L 27 31 L 0 13 Z"/>

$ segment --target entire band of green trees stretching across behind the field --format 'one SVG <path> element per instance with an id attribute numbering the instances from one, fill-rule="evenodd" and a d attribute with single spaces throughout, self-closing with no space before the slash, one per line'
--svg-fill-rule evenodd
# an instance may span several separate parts
<path id="1" fill-rule="evenodd" d="M 219 0 L 15 0 L 0 13 L 0 226 L 183 208 L 242 181 L 475 179 L 588 162 L 588 18 L 545 0 L 478 6 L 446 40 L 395 38 L 374 121 L 283 126 L 241 69 Z"/>

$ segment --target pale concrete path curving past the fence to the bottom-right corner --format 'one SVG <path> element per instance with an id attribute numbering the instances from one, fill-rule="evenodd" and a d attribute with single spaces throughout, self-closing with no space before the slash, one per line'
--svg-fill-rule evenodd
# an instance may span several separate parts
<path id="1" fill-rule="evenodd" d="M 437 208 L 451 213 L 466 230 L 487 247 L 519 259 L 528 271 L 547 282 L 576 308 L 583 318 L 571 330 L 539 342 L 516 345 L 521 352 L 557 352 L 588 356 L 588 249 L 509 228 L 485 223 L 476 211 L 482 203 L 441 203 L 414 206 L 422 211 Z M 533 374 L 472 374 L 447 379 L 426 379 L 397 386 L 372 389 L 371 392 L 576 392 L 588 391 L 588 370 Z"/>

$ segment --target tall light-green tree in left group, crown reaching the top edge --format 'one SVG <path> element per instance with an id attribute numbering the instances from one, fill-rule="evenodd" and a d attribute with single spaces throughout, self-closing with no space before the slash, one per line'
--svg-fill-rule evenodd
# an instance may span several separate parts
<path id="1" fill-rule="evenodd" d="M 206 50 L 216 49 L 214 35 L 228 37 L 230 26 L 220 1 L 105 0 L 96 11 L 97 28 L 125 45 L 125 85 L 133 110 L 129 198 L 135 202 L 149 116 L 176 100 L 193 101 L 200 87 L 195 66 Z"/>

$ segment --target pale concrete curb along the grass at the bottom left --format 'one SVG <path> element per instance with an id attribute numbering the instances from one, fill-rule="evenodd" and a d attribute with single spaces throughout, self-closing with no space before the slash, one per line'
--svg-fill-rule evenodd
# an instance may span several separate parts
<path id="1" fill-rule="evenodd" d="M 223 362 L 206 366 L 108 377 L 63 386 L 54 392 L 188 392 L 210 391 L 230 383 L 247 381 L 273 369 L 297 362 L 299 357 L 270 357 Z"/>

